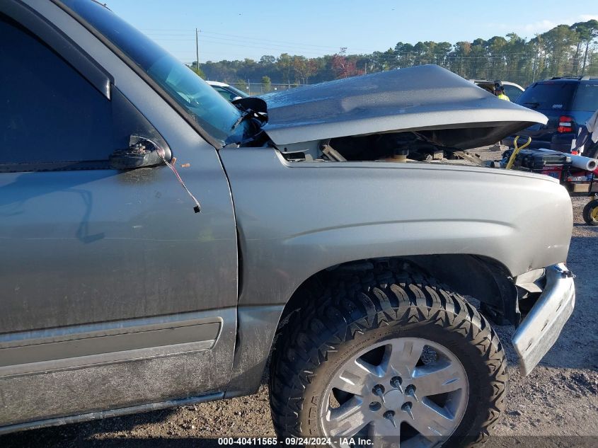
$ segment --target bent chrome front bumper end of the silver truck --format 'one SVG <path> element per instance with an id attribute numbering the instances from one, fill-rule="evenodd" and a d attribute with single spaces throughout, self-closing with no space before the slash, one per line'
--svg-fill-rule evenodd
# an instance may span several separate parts
<path id="1" fill-rule="evenodd" d="M 513 334 L 513 347 L 524 377 L 550 350 L 573 313 L 573 277 L 563 263 L 548 266 L 544 291 Z"/>

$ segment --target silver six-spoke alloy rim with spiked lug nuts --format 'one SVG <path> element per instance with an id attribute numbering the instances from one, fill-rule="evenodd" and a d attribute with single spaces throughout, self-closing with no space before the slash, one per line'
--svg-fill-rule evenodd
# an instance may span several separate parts
<path id="1" fill-rule="evenodd" d="M 361 350 L 326 388 L 320 423 L 333 442 L 369 438 L 374 445 L 433 447 L 452 435 L 468 401 L 468 379 L 446 347 L 393 338 Z"/>

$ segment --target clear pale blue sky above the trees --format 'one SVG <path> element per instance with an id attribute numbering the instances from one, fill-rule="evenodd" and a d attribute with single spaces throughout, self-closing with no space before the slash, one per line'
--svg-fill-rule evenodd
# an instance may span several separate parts
<path id="1" fill-rule="evenodd" d="M 182 62 L 370 53 L 418 40 L 457 42 L 598 19 L 598 1 L 102 0 Z"/>

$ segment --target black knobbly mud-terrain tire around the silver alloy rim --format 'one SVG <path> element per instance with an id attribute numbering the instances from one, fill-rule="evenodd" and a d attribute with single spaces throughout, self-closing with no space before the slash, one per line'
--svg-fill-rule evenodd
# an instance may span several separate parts
<path id="1" fill-rule="evenodd" d="M 485 441 L 505 408 L 508 377 L 498 335 L 463 297 L 407 263 L 338 275 L 280 329 L 270 366 L 277 434 L 326 435 L 323 397 L 335 374 L 358 350 L 392 338 L 430 340 L 458 358 L 468 397 L 460 423 L 442 446 Z"/>

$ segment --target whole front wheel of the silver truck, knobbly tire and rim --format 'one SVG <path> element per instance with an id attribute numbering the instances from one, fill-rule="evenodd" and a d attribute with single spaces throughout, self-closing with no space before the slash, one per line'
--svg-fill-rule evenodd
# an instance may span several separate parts
<path id="1" fill-rule="evenodd" d="M 289 319 L 272 420 L 281 437 L 337 446 L 472 445 L 504 409 L 505 367 L 498 336 L 459 294 L 378 269 L 339 279 Z"/>

